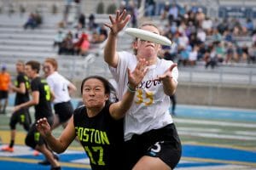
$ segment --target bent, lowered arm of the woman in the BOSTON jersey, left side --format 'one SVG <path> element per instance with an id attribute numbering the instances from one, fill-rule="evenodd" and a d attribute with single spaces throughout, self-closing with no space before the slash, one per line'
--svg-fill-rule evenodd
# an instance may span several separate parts
<path id="1" fill-rule="evenodd" d="M 46 118 L 39 119 L 37 122 L 38 132 L 43 136 L 49 147 L 56 153 L 62 153 L 67 150 L 69 144 L 72 143 L 76 137 L 75 128 L 73 126 L 73 116 L 69 120 L 67 127 L 61 133 L 59 139 L 56 139 L 50 130 L 49 123 Z"/>

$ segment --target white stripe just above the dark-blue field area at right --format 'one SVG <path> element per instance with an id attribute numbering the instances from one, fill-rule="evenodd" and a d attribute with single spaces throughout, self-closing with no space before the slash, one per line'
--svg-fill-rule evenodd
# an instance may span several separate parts
<path id="1" fill-rule="evenodd" d="M 256 137 L 250 137 L 250 136 L 238 136 L 238 135 L 217 134 L 217 133 L 195 133 L 195 132 L 188 132 L 188 131 L 178 131 L 178 133 L 182 135 L 197 136 L 202 138 L 239 139 L 239 140 L 255 140 L 256 141 Z"/>

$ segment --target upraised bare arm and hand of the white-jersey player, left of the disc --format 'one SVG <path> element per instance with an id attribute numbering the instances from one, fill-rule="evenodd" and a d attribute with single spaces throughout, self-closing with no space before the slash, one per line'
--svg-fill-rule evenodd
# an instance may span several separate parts
<path id="1" fill-rule="evenodd" d="M 111 24 L 105 24 L 105 26 L 107 26 L 110 31 L 108 34 L 107 44 L 104 48 L 104 60 L 108 63 L 108 65 L 112 67 L 116 68 L 119 61 L 119 56 L 116 52 L 118 33 L 119 31 L 123 30 L 130 18 L 131 15 L 126 15 L 126 10 L 124 10 L 121 14 L 120 11 L 117 10 L 115 19 L 109 15 Z"/>

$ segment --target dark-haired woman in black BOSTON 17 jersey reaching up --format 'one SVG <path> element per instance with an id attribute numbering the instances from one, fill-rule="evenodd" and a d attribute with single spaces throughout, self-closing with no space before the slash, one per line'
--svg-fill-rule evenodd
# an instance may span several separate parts
<path id="1" fill-rule="evenodd" d="M 148 69 L 145 59 L 139 60 L 134 71 L 128 69 L 127 90 L 119 102 L 110 101 L 111 84 L 103 77 L 87 77 L 81 85 L 84 106 L 73 113 L 59 139 L 51 134 L 47 119 L 38 120 L 38 132 L 57 153 L 67 149 L 76 136 L 90 158 L 92 170 L 123 169 L 123 117 L 129 110 L 135 88 Z"/>

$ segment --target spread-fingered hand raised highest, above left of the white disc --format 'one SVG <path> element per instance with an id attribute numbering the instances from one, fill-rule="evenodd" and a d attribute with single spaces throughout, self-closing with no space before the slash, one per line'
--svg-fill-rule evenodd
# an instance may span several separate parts
<path id="1" fill-rule="evenodd" d="M 119 31 L 123 30 L 130 18 L 131 15 L 126 15 L 126 10 L 124 10 L 122 13 L 117 10 L 115 19 L 113 19 L 113 17 L 109 15 L 109 20 L 111 21 L 111 24 L 104 24 L 104 26 L 107 26 L 111 30 L 111 33 L 116 36 Z"/>

